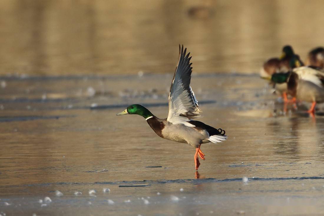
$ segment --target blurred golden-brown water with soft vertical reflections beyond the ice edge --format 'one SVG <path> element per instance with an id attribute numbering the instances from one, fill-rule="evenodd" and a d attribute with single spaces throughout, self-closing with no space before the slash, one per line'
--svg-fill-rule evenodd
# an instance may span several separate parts
<path id="1" fill-rule="evenodd" d="M 291 44 L 324 44 L 324 1 L 3 0 L 0 75 L 170 73 L 178 44 L 194 72 L 256 73 Z"/>

